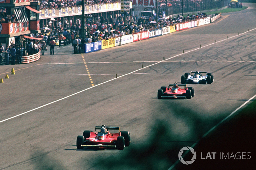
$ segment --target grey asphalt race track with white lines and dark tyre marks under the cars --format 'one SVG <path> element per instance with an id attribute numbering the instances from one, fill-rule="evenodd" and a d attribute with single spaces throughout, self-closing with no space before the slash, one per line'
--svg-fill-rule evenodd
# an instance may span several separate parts
<path id="1" fill-rule="evenodd" d="M 1 65 L 0 170 L 170 168 L 182 147 L 256 94 L 256 5 L 243 5 L 153 39 L 87 54 L 55 46 L 34 63 Z M 161 86 L 196 70 L 213 73 L 213 83 L 189 85 L 190 100 L 157 99 Z M 131 145 L 77 150 L 77 135 L 102 124 L 130 131 Z"/>

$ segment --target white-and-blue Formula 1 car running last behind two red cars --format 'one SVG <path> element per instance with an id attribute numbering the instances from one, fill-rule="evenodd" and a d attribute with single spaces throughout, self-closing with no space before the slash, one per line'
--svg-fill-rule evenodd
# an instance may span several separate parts
<path id="1" fill-rule="evenodd" d="M 206 75 L 203 76 L 202 73 L 206 73 Z M 206 71 L 191 71 L 191 74 L 185 73 L 181 76 L 181 84 L 211 84 L 213 80 L 213 74 Z"/>

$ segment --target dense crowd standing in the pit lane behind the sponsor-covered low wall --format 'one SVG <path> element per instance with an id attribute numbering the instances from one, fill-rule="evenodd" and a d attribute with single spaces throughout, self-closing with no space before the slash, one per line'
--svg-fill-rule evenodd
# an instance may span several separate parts
<path id="1" fill-rule="evenodd" d="M 127 16 L 124 18 L 122 14 L 116 14 L 113 19 L 110 17 L 110 19 L 105 23 L 100 17 L 97 18 L 96 21 L 87 19 L 84 25 L 85 37 L 81 36 L 81 21 L 79 19 L 76 19 L 74 24 L 70 27 L 68 24 L 64 26 L 61 22 L 57 21 L 55 22 L 55 25 L 46 25 L 50 27 L 50 30 L 42 29 L 42 33 L 31 34 L 31 36 L 43 38 L 46 46 L 51 45 L 51 41 L 54 41 L 54 44 L 59 46 L 62 46 L 62 44 L 72 44 L 74 47 L 74 53 L 82 53 L 81 44 L 104 39 L 108 40 L 137 32 L 151 31 L 177 23 L 204 18 L 206 16 L 205 14 L 197 13 L 196 15 L 187 15 L 184 18 L 181 14 L 167 19 L 161 15 L 159 17 L 160 18 L 156 21 L 156 16 L 154 15 L 149 17 L 149 20 L 146 20 L 143 16 L 140 18 L 138 16 Z M 126 20 L 126 24 L 124 24 L 124 20 Z M 54 53 L 54 47 L 51 47 L 50 50 L 51 53 Z"/>

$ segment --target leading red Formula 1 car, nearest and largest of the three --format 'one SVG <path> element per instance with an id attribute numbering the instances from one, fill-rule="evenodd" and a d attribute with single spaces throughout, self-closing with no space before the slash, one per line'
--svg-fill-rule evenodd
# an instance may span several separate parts
<path id="1" fill-rule="evenodd" d="M 129 146 L 131 137 L 129 131 L 120 131 L 120 127 L 95 126 L 95 131 L 84 131 L 83 136 L 77 136 L 76 147 L 112 148 L 123 150 L 124 146 Z M 118 133 L 110 133 L 108 130 L 119 130 Z"/>

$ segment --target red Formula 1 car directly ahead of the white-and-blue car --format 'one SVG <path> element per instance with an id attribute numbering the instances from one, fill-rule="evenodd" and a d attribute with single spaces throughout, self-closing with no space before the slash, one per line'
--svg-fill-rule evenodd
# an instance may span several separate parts
<path id="1" fill-rule="evenodd" d="M 179 86 L 183 86 L 184 89 L 182 89 Z M 172 98 L 186 98 L 191 99 L 191 97 L 194 97 L 195 91 L 193 87 L 187 87 L 187 84 L 169 84 L 168 87 L 162 86 L 161 89 L 157 91 L 157 98 L 162 99 L 163 97 L 172 97 Z"/>

